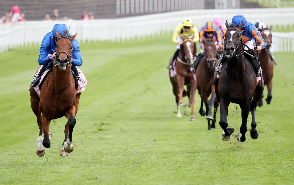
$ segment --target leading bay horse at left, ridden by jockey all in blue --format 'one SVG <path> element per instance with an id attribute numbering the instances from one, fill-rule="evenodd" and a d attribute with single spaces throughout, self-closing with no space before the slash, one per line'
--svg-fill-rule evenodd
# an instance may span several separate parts
<path id="1" fill-rule="evenodd" d="M 44 156 L 45 148 L 50 148 L 52 134 L 49 134 L 49 124 L 52 119 L 65 116 L 68 121 L 65 125 L 65 139 L 62 144 L 60 156 L 68 156 L 73 151 L 72 133 L 76 124 L 76 113 L 81 92 L 76 94 L 75 80 L 71 73 L 71 56 L 76 34 L 70 36 L 67 32 L 60 36 L 56 31 L 56 57 L 52 71 L 44 78 L 40 89 L 40 97 L 32 88 L 31 108 L 37 117 L 39 137 L 37 155 Z M 32 84 L 31 84 L 32 86 Z M 44 139 L 42 138 L 44 132 Z"/>

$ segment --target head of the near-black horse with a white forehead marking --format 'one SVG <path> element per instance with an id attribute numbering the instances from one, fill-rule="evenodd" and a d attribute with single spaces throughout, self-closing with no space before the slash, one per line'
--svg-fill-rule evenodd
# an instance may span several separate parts
<path id="1" fill-rule="evenodd" d="M 236 51 L 242 45 L 241 28 L 243 26 L 243 21 L 239 26 L 234 23 L 229 25 L 228 21 L 226 21 L 225 26 L 227 26 L 224 38 L 225 55 L 227 58 L 230 58 L 233 55 L 236 56 Z"/>

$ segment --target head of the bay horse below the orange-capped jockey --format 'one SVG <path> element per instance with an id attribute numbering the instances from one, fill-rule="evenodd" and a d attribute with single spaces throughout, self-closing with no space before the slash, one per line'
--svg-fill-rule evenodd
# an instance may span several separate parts
<path id="1" fill-rule="evenodd" d="M 203 37 L 203 51 L 204 51 L 204 58 L 208 64 L 209 68 L 213 68 L 216 62 L 216 37 L 213 36 L 212 39 L 206 40 Z"/>

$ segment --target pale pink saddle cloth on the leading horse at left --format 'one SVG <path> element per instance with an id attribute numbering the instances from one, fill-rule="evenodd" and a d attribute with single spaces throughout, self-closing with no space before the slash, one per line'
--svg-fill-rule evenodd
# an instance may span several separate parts
<path id="1" fill-rule="evenodd" d="M 41 67 L 43 67 L 43 66 L 41 66 Z M 38 69 L 37 73 L 40 72 L 41 67 Z M 77 93 L 82 92 L 82 91 L 85 90 L 86 85 L 88 84 L 88 81 L 87 81 L 85 75 L 83 74 L 83 72 L 81 71 L 81 69 L 79 69 L 78 67 L 76 67 L 76 69 L 78 69 L 78 75 L 80 76 L 81 81 L 83 81 L 83 83 L 84 83 L 84 84 L 82 84 L 82 83 L 78 80 L 78 88 L 76 89 L 76 94 L 77 94 Z M 37 94 L 38 94 L 39 97 L 40 97 L 40 89 L 39 89 L 39 85 L 41 84 L 41 82 L 43 81 L 44 77 L 46 76 L 46 74 L 47 74 L 48 72 L 49 72 L 49 69 L 47 69 L 47 70 L 44 72 L 44 74 L 41 76 L 41 79 L 39 80 L 39 84 L 38 84 L 36 87 L 34 87 L 34 89 L 35 89 L 35 91 L 37 92 Z M 37 74 L 37 73 L 36 73 L 36 74 Z M 35 75 L 36 75 L 36 74 L 35 74 Z M 33 81 L 33 80 L 32 80 L 32 81 Z M 46 84 L 46 82 L 44 82 L 44 83 Z M 44 84 L 44 85 L 45 85 L 45 84 Z M 47 84 L 46 84 L 46 85 L 47 85 Z"/>

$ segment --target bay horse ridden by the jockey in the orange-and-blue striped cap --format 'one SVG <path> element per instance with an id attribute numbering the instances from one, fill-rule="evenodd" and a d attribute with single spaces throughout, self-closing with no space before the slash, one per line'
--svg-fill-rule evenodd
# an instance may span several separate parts
<path id="1" fill-rule="evenodd" d="M 204 57 L 200 60 L 200 63 L 196 69 L 196 79 L 197 79 L 197 90 L 201 97 L 201 105 L 199 113 L 201 116 L 206 115 L 206 119 L 208 121 L 208 130 L 215 128 L 216 122 L 216 110 L 218 108 L 218 101 L 216 100 L 216 93 L 214 89 L 214 81 L 213 75 L 215 72 L 215 64 L 216 64 L 216 37 L 213 39 L 206 40 L 203 37 L 203 51 Z M 211 98 L 208 101 L 208 97 L 211 94 Z M 206 107 L 206 111 L 203 110 L 203 102 Z M 212 106 L 214 105 L 214 115 L 212 117 Z M 212 120 L 212 124 L 210 124 L 210 120 Z"/>

